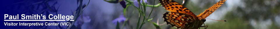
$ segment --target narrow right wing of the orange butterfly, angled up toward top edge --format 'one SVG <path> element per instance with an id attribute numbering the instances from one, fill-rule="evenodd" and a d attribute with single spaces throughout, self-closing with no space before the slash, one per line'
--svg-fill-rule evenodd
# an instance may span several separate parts
<path id="1" fill-rule="evenodd" d="M 201 17 L 201 18 L 205 19 L 207 16 L 209 16 L 214 11 L 216 11 L 222 4 L 224 4 L 225 1 L 227 1 L 227 0 L 220 0 L 219 2 L 217 2 L 215 5 L 213 5 L 209 9 L 206 9 L 203 13 L 200 13 L 199 15 L 197 15 L 197 17 Z"/>

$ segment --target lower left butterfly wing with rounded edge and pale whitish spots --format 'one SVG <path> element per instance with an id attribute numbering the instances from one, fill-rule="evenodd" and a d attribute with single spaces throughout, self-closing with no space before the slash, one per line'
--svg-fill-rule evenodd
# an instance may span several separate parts
<path id="1" fill-rule="evenodd" d="M 190 15 L 176 12 L 166 12 L 163 14 L 164 22 L 176 28 L 190 28 L 193 26 L 194 18 Z"/>

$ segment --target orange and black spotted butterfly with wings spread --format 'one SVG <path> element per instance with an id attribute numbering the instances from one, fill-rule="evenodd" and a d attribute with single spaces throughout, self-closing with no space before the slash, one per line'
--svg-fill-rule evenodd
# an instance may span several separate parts
<path id="1" fill-rule="evenodd" d="M 206 9 L 203 13 L 197 16 L 176 1 L 159 0 L 159 3 L 161 3 L 162 7 L 164 7 L 167 11 L 170 11 L 163 14 L 162 18 L 164 18 L 164 22 L 178 29 L 197 29 L 199 27 L 206 27 L 202 26 L 202 24 L 206 21 L 205 18 L 218 9 L 223 3 L 225 3 L 225 1 L 226 0 L 220 0 L 215 5 Z"/>

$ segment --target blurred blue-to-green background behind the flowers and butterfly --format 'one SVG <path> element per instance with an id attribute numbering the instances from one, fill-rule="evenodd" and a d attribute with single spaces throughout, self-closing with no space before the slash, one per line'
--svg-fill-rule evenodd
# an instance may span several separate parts
<path id="1" fill-rule="evenodd" d="M 4 12 L 15 12 L 18 14 L 37 14 L 36 12 L 46 11 L 43 14 L 62 14 L 62 15 L 73 15 L 80 2 L 79 0 L 4 0 L 8 2 L 1 2 L 3 5 L 1 7 L 6 7 Z M 10 2 L 9 2 L 10 1 Z M 26 2 L 28 1 L 28 2 Z M 45 3 L 35 4 L 34 3 L 46 1 Z M 115 29 L 117 26 L 117 21 L 119 22 L 119 27 L 121 28 L 129 16 L 131 18 L 127 19 L 126 25 L 123 29 L 136 29 L 136 25 L 139 19 L 139 13 L 136 7 L 133 5 L 126 8 L 124 15 L 124 8 L 120 3 L 108 3 L 109 0 L 83 0 L 83 7 L 88 4 L 82 13 L 83 18 L 76 20 L 72 29 Z M 135 0 L 129 0 L 135 1 Z M 153 5 L 154 0 L 145 0 L 148 5 Z M 178 3 L 183 3 L 183 0 L 174 0 Z M 184 5 L 195 15 L 199 15 L 206 9 L 216 4 L 220 0 L 184 0 Z M 21 3 L 22 2 L 22 3 Z M 137 2 L 137 1 L 136 1 Z M 125 1 L 127 3 L 127 1 Z M 159 3 L 155 0 L 155 5 Z M 31 6 L 29 6 L 31 4 Z M 48 4 L 48 5 L 46 5 Z M 41 7 L 37 7 L 40 5 Z M 45 9 L 45 6 L 49 7 Z M 142 6 L 143 7 L 143 6 Z M 146 7 L 146 15 L 149 15 L 153 7 Z M 52 9 L 52 10 L 49 10 Z M 15 10 L 27 10 L 25 11 L 15 11 Z M 32 10 L 36 10 L 33 12 Z M 140 9 L 141 10 L 141 9 Z M 30 12 L 32 11 L 32 12 Z M 171 27 L 169 24 L 164 22 L 162 15 L 165 12 L 169 12 L 164 9 L 164 7 L 154 7 L 151 13 L 150 22 L 155 22 L 160 25 L 161 29 L 177 29 L 176 27 Z M 40 12 L 41 13 L 41 12 Z M 39 14 L 39 13 L 38 13 Z M 146 16 L 148 17 L 148 16 Z M 142 22 L 143 16 L 141 16 L 140 22 Z M 221 5 L 215 12 L 209 15 L 207 18 L 214 20 L 206 20 L 204 24 L 208 26 L 207 29 L 280 29 L 280 0 L 227 0 L 223 5 Z M 83 19 L 83 20 L 81 20 Z M 216 21 L 216 20 L 227 20 Z M 41 21 L 39 21 L 41 22 Z M 47 21 L 48 22 L 48 21 Z M 49 21 L 49 22 L 60 22 L 60 21 Z M 64 21 L 67 22 L 67 21 Z M 143 24 L 141 29 L 156 29 L 153 23 L 147 22 Z M 202 25 L 204 26 L 204 25 Z M 41 26 L 37 28 L 46 29 L 65 29 L 68 26 L 62 26 L 56 28 L 48 26 Z M 28 28 L 28 27 L 27 27 Z M 32 28 L 29 28 L 32 29 Z M 201 29 L 204 29 L 202 27 Z"/>

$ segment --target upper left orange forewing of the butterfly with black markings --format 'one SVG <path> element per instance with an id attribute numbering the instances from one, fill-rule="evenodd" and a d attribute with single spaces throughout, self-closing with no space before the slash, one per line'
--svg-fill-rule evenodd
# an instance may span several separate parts
<path id="1" fill-rule="evenodd" d="M 159 0 L 159 1 L 161 3 L 162 7 L 164 7 L 167 11 L 196 16 L 189 9 L 187 9 L 180 3 L 177 3 L 176 1 L 173 1 L 173 0 Z"/>

